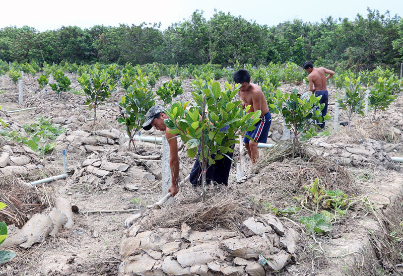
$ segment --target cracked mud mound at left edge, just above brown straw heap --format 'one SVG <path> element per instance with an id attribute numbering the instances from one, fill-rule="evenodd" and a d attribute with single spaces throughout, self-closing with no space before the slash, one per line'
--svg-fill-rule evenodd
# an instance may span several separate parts
<path id="1" fill-rule="evenodd" d="M 33 150 L 19 143 L 0 140 L 0 176 L 33 175 L 42 168 Z"/>

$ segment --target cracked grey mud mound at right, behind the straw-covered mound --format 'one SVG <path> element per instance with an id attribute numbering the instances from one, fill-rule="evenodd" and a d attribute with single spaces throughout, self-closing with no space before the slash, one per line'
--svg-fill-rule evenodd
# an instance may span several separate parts
<path id="1" fill-rule="evenodd" d="M 378 141 L 365 139 L 362 144 L 328 144 L 324 137 L 311 139 L 310 143 L 316 147 L 311 149 L 313 154 L 323 156 L 334 163 L 346 166 L 373 165 L 392 169 L 393 163 Z"/>

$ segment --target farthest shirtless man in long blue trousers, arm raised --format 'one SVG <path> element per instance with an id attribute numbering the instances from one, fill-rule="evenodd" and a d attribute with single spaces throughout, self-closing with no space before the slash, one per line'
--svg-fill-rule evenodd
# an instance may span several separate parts
<path id="1" fill-rule="evenodd" d="M 327 113 L 327 101 L 329 99 L 329 94 L 327 92 L 326 81 L 333 77 L 334 72 L 331 70 L 326 69 L 325 67 L 313 67 L 312 62 L 306 61 L 302 68 L 309 74 L 308 81 L 309 81 L 309 90 L 312 93 L 315 93 L 315 97 L 322 96 L 319 100 L 319 103 L 324 103 L 324 108 L 322 109 L 322 118 Z M 325 74 L 328 74 L 327 77 Z M 318 121 L 317 121 L 318 122 Z M 324 122 L 319 123 L 318 125 L 320 128 L 324 128 Z"/>

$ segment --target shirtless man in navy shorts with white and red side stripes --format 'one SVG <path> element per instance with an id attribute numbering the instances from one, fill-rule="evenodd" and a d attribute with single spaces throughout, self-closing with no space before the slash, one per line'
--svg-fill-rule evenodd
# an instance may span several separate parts
<path id="1" fill-rule="evenodd" d="M 242 106 L 246 107 L 250 105 L 248 112 L 261 110 L 260 120 L 255 124 L 256 128 L 253 131 L 246 131 L 245 133 L 253 140 L 249 140 L 246 137 L 243 139 L 253 165 L 259 157 L 257 144 L 267 142 L 268 130 L 272 124 L 272 115 L 268 112 L 267 101 L 260 86 L 250 83 L 249 72 L 243 69 L 238 70 L 234 73 L 234 81 L 236 84 L 241 85 L 238 95 L 242 101 Z"/>

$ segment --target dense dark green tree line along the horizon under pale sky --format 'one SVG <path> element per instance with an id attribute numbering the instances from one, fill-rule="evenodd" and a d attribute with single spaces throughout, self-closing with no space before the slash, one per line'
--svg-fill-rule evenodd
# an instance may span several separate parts
<path id="1" fill-rule="evenodd" d="M 210 20 L 195 11 L 189 19 L 160 25 L 77 26 L 38 32 L 24 26 L 0 29 L 0 59 L 62 60 L 76 63 L 231 65 L 305 60 L 316 65 L 362 70 L 377 65 L 396 67 L 403 61 L 403 19 L 368 9 L 354 21 L 328 17 L 320 23 L 286 21 L 268 27 L 216 12 Z"/>

